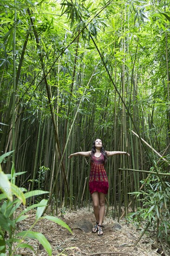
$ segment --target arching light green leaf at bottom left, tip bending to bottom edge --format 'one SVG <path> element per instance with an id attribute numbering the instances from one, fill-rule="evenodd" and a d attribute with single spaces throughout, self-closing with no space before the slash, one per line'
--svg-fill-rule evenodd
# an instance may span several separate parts
<path id="1" fill-rule="evenodd" d="M 43 234 L 41 234 L 39 232 L 28 230 L 28 231 L 22 231 L 22 232 L 18 233 L 17 236 L 25 236 L 25 237 L 29 237 L 29 238 L 33 238 L 33 239 L 38 239 L 39 243 L 41 243 L 42 246 L 46 249 L 48 255 L 49 256 L 52 255 L 51 245 Z"/>

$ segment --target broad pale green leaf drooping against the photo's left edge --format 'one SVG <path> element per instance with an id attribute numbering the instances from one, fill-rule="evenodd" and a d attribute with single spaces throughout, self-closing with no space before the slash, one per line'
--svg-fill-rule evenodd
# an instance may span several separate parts
<path id="1" fill-rule="evenodd" d="M 2 171 L 0 165 L 0 190 L 6 197 L 12 201 L 13 196 L 11 194 L 11 182 L 8 180 L 7 175 Z"/>

